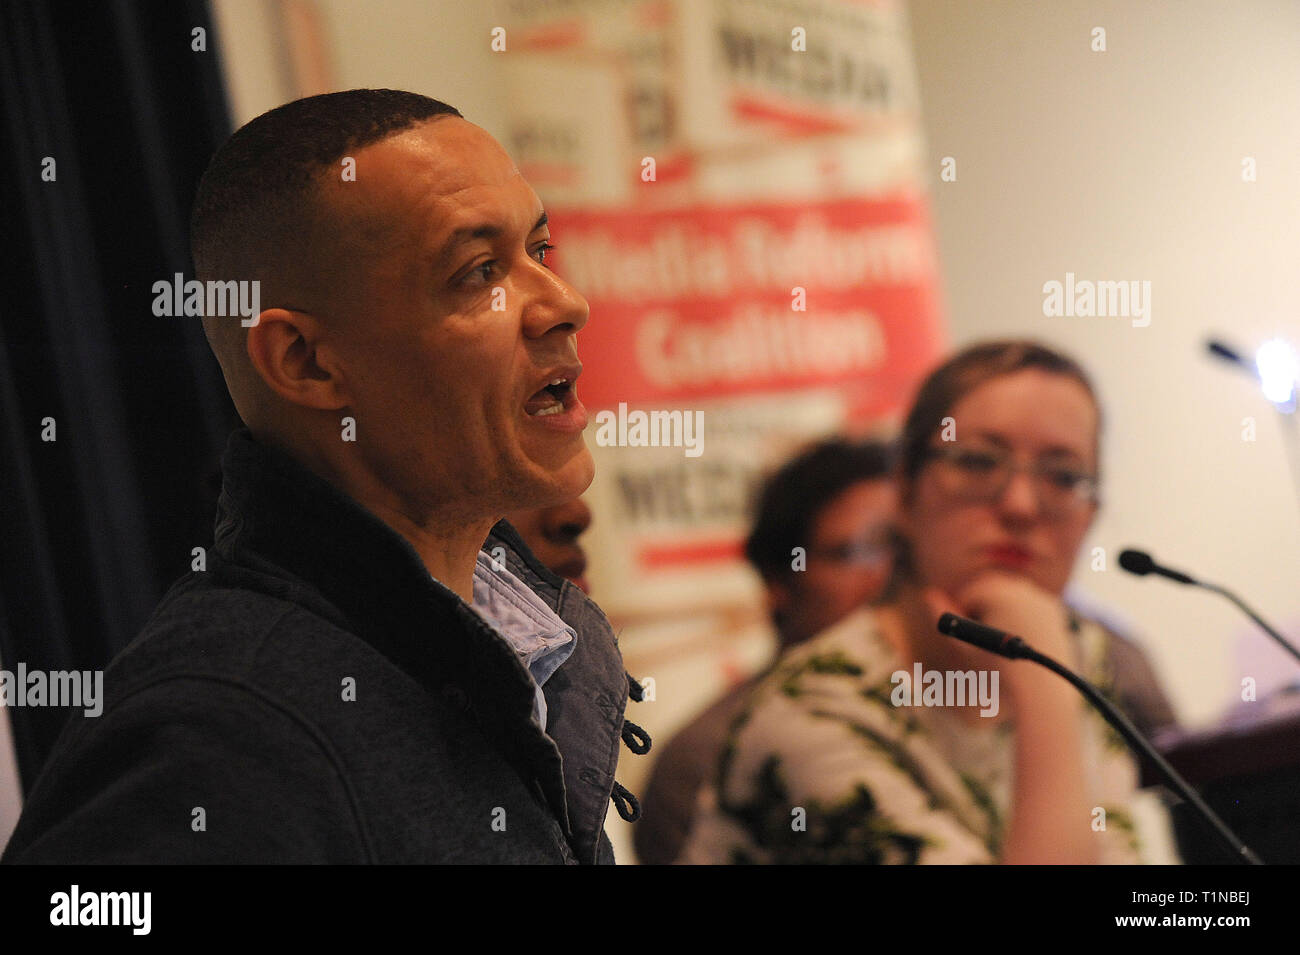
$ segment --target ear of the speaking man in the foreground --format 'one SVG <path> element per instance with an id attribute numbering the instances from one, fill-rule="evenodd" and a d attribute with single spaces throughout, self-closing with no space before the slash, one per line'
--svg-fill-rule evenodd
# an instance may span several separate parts
<path id="1" fill-rule="evenodd" d="M 268 308 L 248 329 L 244 347 L 263 382 L 290 404 L 335 411 L 348 404 L 342 368 L 309 312 Z"/>

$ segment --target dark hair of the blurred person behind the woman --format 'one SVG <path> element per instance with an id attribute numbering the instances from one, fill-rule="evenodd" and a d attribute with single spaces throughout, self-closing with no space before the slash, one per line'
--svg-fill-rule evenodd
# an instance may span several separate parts
<path id="1" fill-rule="evenodd" d="M 892 448 L 879 440 L 829 438 L 781 465 L 758 495 L 745 557 L 764 579 L 790 569 L 796 547 L 809 547 L 818 516 L 842 491 L 890 477 Z"/>

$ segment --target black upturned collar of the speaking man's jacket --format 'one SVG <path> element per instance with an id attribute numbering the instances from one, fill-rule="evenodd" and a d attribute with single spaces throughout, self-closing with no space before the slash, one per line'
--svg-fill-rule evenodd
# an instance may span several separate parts
<path id="1" fill-rule="evenodd" d="M 239 427 L 221 466 L 213 569 L 358 635 L 430 693 L 467 698 L 568 834 L 560 754 L 532 721 L 533 682 L 506 642 L 429 576 L 406 538 L 287 452 Z M 529 586 L 558 608 L 563 581 L 504 521 L 489 538 L 495 546 L 507 548 L 512 565 L 528 567 Z"/>

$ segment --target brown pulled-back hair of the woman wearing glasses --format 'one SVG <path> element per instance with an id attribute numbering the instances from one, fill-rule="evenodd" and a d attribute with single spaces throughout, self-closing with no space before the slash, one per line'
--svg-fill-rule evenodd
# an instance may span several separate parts
<path id="1" fill-rule="evenodd" d="M 930 439 L 942 427 L 942 421 L 966 395 L 993 378 L 1026 369 L 1039 369 L 1079 382 L 1097 409 L 1097 442 L 1100 451 L 1101 403 L 1088 376 L 1079 364 L 1039 342 L 1009 339 L 979 342 L 967 346 L 936 368 L 922 382 L 898 437 L 898 476 L 910 485 L 927 460 Z"/>

